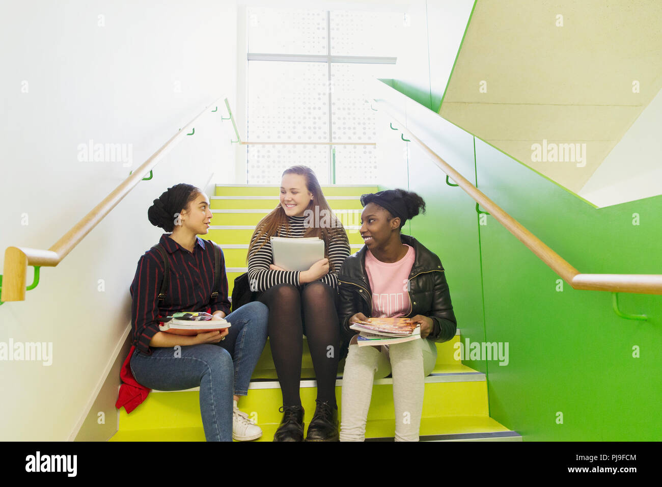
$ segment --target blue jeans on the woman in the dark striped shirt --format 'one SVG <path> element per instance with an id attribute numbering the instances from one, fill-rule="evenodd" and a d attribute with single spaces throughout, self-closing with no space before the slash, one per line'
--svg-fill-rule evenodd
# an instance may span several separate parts
<path id="1" fill-rule="evenodd" d="M 269 309 L 258 301 L 226 316 L 225 340 L 181 347 L 136 349 L 131 372 L 150 389 L 174 391 L 200 386 L 200 412 L 207 441 L 232 441 L 232 393 L 248 394 L 250 376 L 267 341 Z"/>

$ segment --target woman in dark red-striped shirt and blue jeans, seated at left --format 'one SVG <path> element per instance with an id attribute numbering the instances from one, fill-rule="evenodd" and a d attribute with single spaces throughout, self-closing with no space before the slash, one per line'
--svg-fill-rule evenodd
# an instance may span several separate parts
<path id="1" fill-rule="evenodd" d="M 248 394 L 251 374 L 264 348 L 268 309 L 254 302 L 230 313 L 223 252 L 213 241 L 197 237 L 209 232 L 212 217 L 203 191 L 190 184 L 168 188 L 154 200 L 148 217 L 152 225 L 169 232 L 160 239 L 169 285 L 166 298 L 160 301 L 164 255 L 156 248 L 148 250 L 138 260 L 130 288 L 132 347 L 122 367 L 125 383 L 116 406 L 130 412 L 144 400 L 148 388 L 199 386 L 207 441 L 257 439 L 262 435 L 260 427 L 238 409 L 237 401 Z M 213 293 L 216 258 L 220 262 L 217 294 Z M 207 311 L 224 317 L 230 328 L 193 337 L 159 331 L 160 317 L 178 311 Z"/>

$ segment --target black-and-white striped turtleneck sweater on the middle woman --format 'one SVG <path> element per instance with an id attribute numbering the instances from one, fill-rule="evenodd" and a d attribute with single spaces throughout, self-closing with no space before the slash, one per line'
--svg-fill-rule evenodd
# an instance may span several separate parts
<path id="1" fill-rule="evenodd" d="M 289 221 L 289 233 L 285 229 L 279 231 L 278 237 L 303 237 L 306 231 L 304 225 L 305 217 L 287 217 Z M 269 265 L 273 264 L 273 254 L 271 253 L 271 241 L 266 235 L 260 237 L 260 240 L 255 244 L 256 248 L 259 247 L 264 241 L 266 243 L 260 250 L 254 252 L 248 258 L 248 280 L 252 283 L 254 291 L 266 291 L 275 286 L 276 284 L 287 283 L 293 286 L 301 286 L 299 282 L 299 270 L 271 270 Z M 333 264 L 335 272 L 328 272 L 328 274 L 318 279 L 338 289 L 338 272 L 340 266 L 345 258 L 350 255 L 350 244 L 347 238 L 336 238 L 332 240 L 328 248 L 329 262 Z"/>

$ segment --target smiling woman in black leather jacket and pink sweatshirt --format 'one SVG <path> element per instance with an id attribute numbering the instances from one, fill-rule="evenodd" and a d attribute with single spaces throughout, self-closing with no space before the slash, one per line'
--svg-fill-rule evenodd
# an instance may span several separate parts
<path id="1" fill-rule="evenodd" d="M 361 196 L 365 245 L 346 258 L 340 281 L 339 318 L 351 338 L 342 378 L 340 441 L 363 441 L 374 378 L 393 371 L 395 440 L 418 441 L 424 378 L 436 362 L 434 342 L 455 335 L 457 321 L 438 256 L 409 235 L 404 222 L 425 211 L 416 193 L 389 189 Z M 367 317 L 410 317 L 421 339 L 387 347 L 359 347 L 350 325 Z M 375 371 L 377 371 L 375 373 Z M 408 413 L 409 421 L 402 421 Z"/>

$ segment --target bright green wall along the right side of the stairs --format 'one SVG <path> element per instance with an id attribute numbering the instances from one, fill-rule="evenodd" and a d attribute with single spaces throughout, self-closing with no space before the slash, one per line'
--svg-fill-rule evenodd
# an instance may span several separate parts
<path id="1" fill-rule="evenodd" d="M 428 16 L 441 15 L 433 3 L 440 4 L 428 1 Z M 439 32 L 430 29 L 428 46 L 418 49 L 428 56 L 438 50 Z M 446 80 L 432 73 L 449 72 L 447 64 L 418 62 L 403 80 L 388 83 L 408 95 L 392 90 L 389 99 L 408 129 L 580 272 L 662 274 L 662 196 L 595 209 L 455 127 L 434 113 Z M 649 316 L 632 321 L 614 313 L 611 293 L 559 284 L 493 217 L 481 225 L 475 201 L 447 186 L 416 144 L 384 124 L 389 147 L 408 150 L 404 159 L 399 150 L 385 154 L 381 189 L 406 183 L 425 199 L 426 215 L 405 229 L 440 256 L 462 340 L 508 343 L 505 366 L 464 360 L 487 374 L 490 415 L 524 441 L 661 440 L 662 296 L 619 294 L 622 311 Z M 402 174 L 403 165 L 406 180 L 396 183 L 389 174 Z"/>

